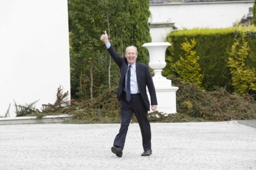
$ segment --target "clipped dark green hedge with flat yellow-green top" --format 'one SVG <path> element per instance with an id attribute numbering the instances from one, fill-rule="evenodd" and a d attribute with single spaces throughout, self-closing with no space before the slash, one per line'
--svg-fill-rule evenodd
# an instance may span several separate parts
<path id="1" fill-rule="evenodd" d="M 240 36 L 241 30 L 247 32 L 246 38 L 250 47 L 246 64 L 250 68 L 256 68 L 256 27 L 250 26 L 239 30 L 236 28 L 191 29 L 171 32 L 167 41 L 172 46 L 167 49 L 167 66 L 163 70 L 163 75 L 175 75 L 171 68 L 180 56 L 184 56 L 181 44 L 185 42 L 185 37 L 188 40 L 194 38 L 197 42 L 194 50 L 200 57 L 198 63 L 200 64 L 201 73 L 204 75 L 202 86 L 208 91 L 226 86 L 228 92 L 233 92 L 230 71 L 226 65 L 229 57 L 228 53 L 234 39 Z"/>

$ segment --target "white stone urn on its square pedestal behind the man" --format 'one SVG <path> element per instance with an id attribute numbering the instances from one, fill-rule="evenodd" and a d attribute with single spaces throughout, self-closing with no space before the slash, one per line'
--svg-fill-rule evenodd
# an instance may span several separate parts
<path id="1" fill-rule="evenodd" d="M 152 77 L 156 89 L 158 100 L 158 111 L 166 114 L 176 113 L 176 91 L 178 87 L 172 86 L 171 80 L 163 77 L 161 72 L 166 66 L 165 51 L 171 46 L 169 42 L 150 42 L 143 44 L 148 49 L 149 63 L 148 65 L 154 71 Z M 150 95 L 148 94 L 148 97 Z"/>

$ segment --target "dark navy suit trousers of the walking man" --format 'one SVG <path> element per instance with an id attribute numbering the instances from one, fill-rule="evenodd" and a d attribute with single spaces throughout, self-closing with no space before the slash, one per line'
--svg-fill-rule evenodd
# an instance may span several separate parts
<path id="1" fill-rule="evenodd" d="M 137 118 L 142 135 L 144 151 L 151 149 L 151 128 L 148 121 L 148 110 L 140 93 L 131 94 L 131 100 L 126 101 L 126 93 L 123 93 L 121 100 L 121 127 L 114 140 L 114 146 L 124 148 L 128 127 L 133 113 Z"/>

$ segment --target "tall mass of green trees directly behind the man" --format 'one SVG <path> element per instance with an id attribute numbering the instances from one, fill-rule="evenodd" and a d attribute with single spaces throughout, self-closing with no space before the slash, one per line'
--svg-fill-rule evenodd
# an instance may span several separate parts
<path id="1" fill-rule="evenodd" d="M 126 46 L 138 48 L 138 60 L 148 63 L 145 42 L 151 42 L 148 0 L 68 0 L 71 95 L 93 99 L 97 91 L 118 83 L 119 69 L 99 37 L 106 30 L 120 55 Z"/>

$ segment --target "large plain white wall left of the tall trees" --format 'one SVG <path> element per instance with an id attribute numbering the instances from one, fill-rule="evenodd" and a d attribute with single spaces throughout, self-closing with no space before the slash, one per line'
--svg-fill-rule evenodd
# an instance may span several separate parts
<path id="1" fill-rule="evenodd" d="M 0 0 L 0 116 L 70 92 L 67 0 Z M 70 95 L 69 95 L 70 99 Z"/>

